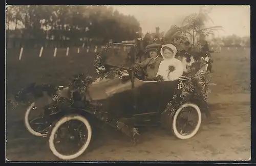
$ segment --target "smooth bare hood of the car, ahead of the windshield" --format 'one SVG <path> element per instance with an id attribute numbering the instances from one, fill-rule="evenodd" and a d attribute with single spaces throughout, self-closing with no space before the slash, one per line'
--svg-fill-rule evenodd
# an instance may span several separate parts
<path id="1" fill-rule="evenodd" d="M 123 92 L 132 88 L 130 80 L 123 81 L 118 76 L 112 79 L 96 80 L 87 88 L 87 100 L 103 100 L 115 93 Z"/>

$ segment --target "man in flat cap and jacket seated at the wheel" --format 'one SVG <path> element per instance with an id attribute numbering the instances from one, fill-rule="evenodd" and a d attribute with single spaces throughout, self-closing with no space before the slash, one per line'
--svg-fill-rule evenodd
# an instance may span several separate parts
<path id="1" fill-rule="evenodd" d="M 146 46 L 146 51 L 150 53 L 150 57 L 140 63 L 136 63 L 135 67 L 145 67 L 147 78 L 152 79 L 156 77 L 160 62 L 163 60 L 162 56 L 159 56 L 158 50 L 161 48 L 161 44 L 150 44 Z"/>

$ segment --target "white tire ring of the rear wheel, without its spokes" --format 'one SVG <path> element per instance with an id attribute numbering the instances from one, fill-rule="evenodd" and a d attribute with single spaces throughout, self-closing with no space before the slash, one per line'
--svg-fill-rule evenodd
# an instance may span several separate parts
<path id="1" fill-rule="evenodd" d="M 181 133 L 178 132 L 177 130 L 177 117 L 179 115 L 179 113 L 181 112 L 181 110 L 184 107 L 193 107 L 197 113 L 198 113 L 198 123 L 195 127 L 195 129 L 188 135 L 182 135 Z M 191 137 L 193 137 L 194 135 L 196 135 L 196 133 L 198 132 L 200 125 L 201 125 L 201 121 L 202 121 L 202 114 L 201 114 L 201 110 L 200 108 L 196 105 L 196 104 L 192 104 L 192 103 L 185 103 L 183 104 L 174 114 L 174 118 L 173 118 L 173 123 L 172 123 L 172 130 L 174 135 L 179 138 L 179 139 L 189 139 Z"/>

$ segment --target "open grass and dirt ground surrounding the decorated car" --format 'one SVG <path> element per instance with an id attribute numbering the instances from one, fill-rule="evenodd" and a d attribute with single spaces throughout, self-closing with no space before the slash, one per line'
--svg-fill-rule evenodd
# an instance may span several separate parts
<path id="1" fill-rule="evenodd" d="M 7 50 L 7 98 L 28 83 L 66 84 L 77 73 L 92 65 L 95 53 L 85 50 Z M 250 50 L 222 49 L 213 53 L 213 70 L 209 107 L 211 119 L 203 118 L 198 134 L 189 140 L 178 140 L 159 128 L 141 134 L 133 146 L 113 129 L 95 139 L 93 151 L 77 160 L 248 160 L 250 158 Z M 93 74 L 93 70 L 89 71 Z M 7 159 L 57 160 L 46 146 L 46 140 L 31 136 L 22 124 L 25 109 L 7 107 Z M 102 140 L 104 138 L 104 140 Z M 33 143 L 33 144 L 31 144 Z"/>

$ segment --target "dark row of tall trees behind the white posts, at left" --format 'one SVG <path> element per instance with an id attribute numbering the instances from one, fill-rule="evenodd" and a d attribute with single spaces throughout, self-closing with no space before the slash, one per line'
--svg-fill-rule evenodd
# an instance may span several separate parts
<path id="1" fill-rule="evenodd" d="M 107 6 L 8 6 L 6 29 L 12 47 L 66 47 L 133 40 L 140 23 Z"/>

